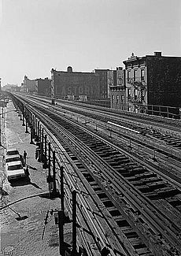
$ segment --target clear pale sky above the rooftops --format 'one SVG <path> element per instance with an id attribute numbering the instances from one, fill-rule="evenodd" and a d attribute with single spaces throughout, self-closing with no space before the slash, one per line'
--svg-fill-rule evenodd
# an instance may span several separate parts
<path id="1" fill-rule="evenodd" d="M 154 51 L 181 56 L 180 0 L 0 0 L 2 86 L 69 65 L 116 69 Z"/>

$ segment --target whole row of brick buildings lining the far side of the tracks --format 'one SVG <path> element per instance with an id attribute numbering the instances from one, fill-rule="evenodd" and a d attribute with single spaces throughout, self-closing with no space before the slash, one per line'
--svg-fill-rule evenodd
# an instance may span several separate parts
<path id="1" fill-rule="evenodd" d="M 143 57 L 131 54 L 123 63 L 124 68 L 93 72 L 73 72 L 70 66 L 67 71 L 51 69 L 51 79 L 24 76 L 20 91 L 74 101 L 105 101 L 111 108 L 136 113 L 168 113 L 167 106 L 179 109 L 181 57 L 162 56 L 161 52 Z"/>

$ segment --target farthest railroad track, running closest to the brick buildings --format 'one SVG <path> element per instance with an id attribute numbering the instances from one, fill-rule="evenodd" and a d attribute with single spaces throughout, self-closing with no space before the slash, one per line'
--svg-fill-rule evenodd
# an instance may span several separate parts
<path id="1" fill-rule="evenodd" d="M 35 96 L 28 95 L 28 98 L 36 98 Z M 50 102 L 50 100 L 39 98 L 41 102 Z M 114 122 L 119 124 L 122 128 L 129 128 L 133 131 L 140 132 L 140 134 L 149 135 L 150 139 L 157 139 L 160 143 L 164 142 L 166 146 L 173 147 L 175 149 L 181 150 L 181 122 L 175 121 L 172 119 L 166 119 L 163 117 L 150 117 L 148 115 L 138 115 L 134 113 L 127 113 L 125 117 L 124 112 L 119 114 L 113 113 L 113 111 L 108 111 L 104 109 L 104 114 L 100 109 L 95 109 L 94 106 L 89 106 L 87 108 L 85 104 L 81 103 L 72 103 L 66 101 L 59 101 L 58 106 L 62 106 L 63 109 L 68 111 L 79 113 L 84 117 L 90 117 L 97 121 L 102 121 L 104 123 Z M 79 105 L 81 105 L 79 107 Z M 84 107 L 83 107 L 83 106 Z M 92 110 L 92 109 L 93 110 Z M 136 117 L 136 118 L 135 118 Z M 140 118 L 140 121 L 138 121 Z M 155 121 L 157 124 L 155 124 Z M 181 156 L 181 151 L 179 152 Z M 170 157 L 171 154 L 168 154 Z M 172 154 L 172 157 L 175 158 L 175 153 Z"/>

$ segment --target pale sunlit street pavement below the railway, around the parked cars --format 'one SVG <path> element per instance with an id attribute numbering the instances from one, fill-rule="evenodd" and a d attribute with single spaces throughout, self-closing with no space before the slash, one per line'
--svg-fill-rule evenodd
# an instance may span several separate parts
<path id="1" fill-rule="evenodd" d="M 25 133 L 25 127 L 22 126 L 20 117 L 14 111 L 13 102 L 9 102 L 6 108 L 5 119 L 5 147 L 17 147 L 20 154 L 24 150 L 27 151 L 27 164 L 29 167 L 31 181 L 18 181 L 16 184 L 9 184 L 6 180 L 3 184 L 3 191 L 7 195 L 2 195 L 2 199 L 6 204 L 14 202 L 19 198 L 28 195 L 35 195 L 48 191 L 46 184 L 46 169 L 42 169 L 42 164 L 35 160 L 35 145 L 30 144 L 30 135 Z M 11 111 L 11 112 L 9 112 Z M 5 143 L 5 142 L 3 142 Z M 2 158 L 3 150 L 0 147 L 0 158 Z M 2 176 L 2 166 L 0 175 Z M 1 177 L 0 176 L 0 177 Z M 5 206 L 3 202 L 1 207 Z M 58 230 L 54 224 L 54 215 L 48 218 L 44 239 L 42 232 L 44 228 L 44 218 L 47 210 L 60 208 L 60 199 L 50 200 L 48 198 L 29 198 L 21 202 L 17 202 L 10 206 L 12 210 L 6 208 L 0 210 L 2 222 L 1 228 L 1 250 L 2 255 L 16 256 L 57 256 L 59 254 Z M 18 214 L 14 213 L 16 211 Z M 20 217 L 20 221 L 17 220 Z M 22 218 L 21 218 L 22 217 Z M 66 243 L 71 243 L 71 224 L 66 224 L 67 233 L 65 237 Z"/>

